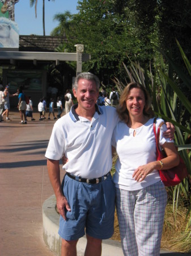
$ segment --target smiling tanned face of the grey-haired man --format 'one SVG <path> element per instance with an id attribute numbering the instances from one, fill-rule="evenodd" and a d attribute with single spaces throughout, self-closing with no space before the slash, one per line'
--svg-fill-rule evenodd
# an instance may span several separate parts
<path id="1" fill-rule="evenodd" d="M 78 81 L 77 92 L 73 89 L 74 96 L 78 101 L 78 108 L 83 110 L 92 110 L 95 108 L 99 91 L 96 89 L 96 82 L 86 79 Z"/>

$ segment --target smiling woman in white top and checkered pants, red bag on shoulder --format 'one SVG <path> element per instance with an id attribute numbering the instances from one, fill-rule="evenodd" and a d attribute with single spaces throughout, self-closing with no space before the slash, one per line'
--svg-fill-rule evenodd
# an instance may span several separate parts
<path id="1" fill-rule="evenodd" d="M 156 161 L 154 112 L 145 87 L 131 82 L 117 108 L 121 122 L 113 132 L 112 145 L 118 160 L 113 181 L 124 255 L 159 255 L 167 193 L 158 170 L 179 164 L 173 141 L 160 133 L 167 157 Z M 157 119 L 156 130 L 162 119 Z"/>

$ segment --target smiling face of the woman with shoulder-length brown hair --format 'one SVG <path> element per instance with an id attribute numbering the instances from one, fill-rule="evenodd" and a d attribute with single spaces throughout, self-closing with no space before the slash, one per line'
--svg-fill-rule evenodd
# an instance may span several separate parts
<path id="1" fill-rule="evenodd" d="M 130 117 L 138 117 L 143 115 L 145 107 L 145 94 L 139 88 L 132 88 L 126 99 L 126 108 Z"/>

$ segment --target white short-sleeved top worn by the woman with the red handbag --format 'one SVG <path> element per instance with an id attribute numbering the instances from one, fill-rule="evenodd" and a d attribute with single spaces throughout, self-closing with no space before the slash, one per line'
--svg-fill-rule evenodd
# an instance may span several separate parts
<path id="1" fill-rule="evenodd" d="M 118 160 L 113 181 L 117 188 L 134 191 L 160 181 L 158 170 L 152 171 L 141 182 L 135 181 L 132 177 L 137 167 L 156 161 L 156 141 L 153 131 L 153 121 L 154 118 L 151 118 L 145 125 L 137 129 L 131 129 L 126 123 L 119 122 L 114 129 L 112 145 L 116 147 Z M 157 119 L 156 131 L 162 121 L 162 119 Z M 134 130 L 136 131 L 135 137 L 133 137 Z M 160 128 L 160 145 L 163 145 L 165 142 L 173 142 L 162 137 L 163 131 L 165 130 L 167 128 L 163 125 Z"/>

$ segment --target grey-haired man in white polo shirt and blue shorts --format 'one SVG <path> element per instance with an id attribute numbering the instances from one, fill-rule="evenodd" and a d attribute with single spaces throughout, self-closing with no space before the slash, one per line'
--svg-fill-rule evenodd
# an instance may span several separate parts
<path id="1" fill-rule="evenodd" d="M 62 256 L 76 256 L 77 242 L 86 229 L 84 255 L 101 255 L 101 241 L 113 234 L 115 189 L 111 138 L 118 122 L 116 110 L 95 104 L 99 79 L 80 73 L 73 88 L 78 104 L 55 123 L 46 150 L 48 173 L 61 214 L 58 233 L 62 237 Z M 59 160 L 69 159 L 63 168 L 63 190 Z"/>

